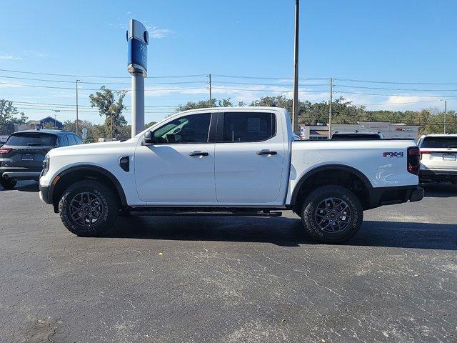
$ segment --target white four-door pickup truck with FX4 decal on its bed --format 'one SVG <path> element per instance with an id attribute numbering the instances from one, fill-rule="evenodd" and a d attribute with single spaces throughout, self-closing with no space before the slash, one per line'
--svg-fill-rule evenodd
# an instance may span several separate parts
<path id="1" fill-rule="evenodd" d="M 40 197 L 67 229 L 94 236 L 119 214 L 277 217 L 291 209 L 319 242 L 343 242 L 363 210 L 416 202 L 412 140 L 294 141 L 288 111 L 184 111 L 127 141 L 49 151 Z"/>

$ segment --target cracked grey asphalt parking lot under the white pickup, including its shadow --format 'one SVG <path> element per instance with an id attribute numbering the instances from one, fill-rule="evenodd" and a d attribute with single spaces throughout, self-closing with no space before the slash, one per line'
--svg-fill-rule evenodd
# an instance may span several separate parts
<path id="1" fill-rule="evenodd" d="M 37 190 L 0 187 L 0 342 L 457 341 L 456 186 L 365 212 L 333 246 L 289 212 L 79 238 Z"/>

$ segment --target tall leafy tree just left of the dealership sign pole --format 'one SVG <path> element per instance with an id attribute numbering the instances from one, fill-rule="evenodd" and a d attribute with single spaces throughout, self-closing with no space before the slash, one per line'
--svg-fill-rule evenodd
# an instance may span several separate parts
<path id="1" fill-rule="evenodd" d="M 89 95 L 91 106 L 98 107 L 100 116 L 105 116 L 105 127 L 102 132 L 106 136 L 119 139 L 124 134 L 121 128 L 127 124 L 122 115 L 122 111 L 125 109 L 124 97 L 126 93 L 126 91 L 111 91 L 106 86 L 101 86 L 100 91 Z"/>

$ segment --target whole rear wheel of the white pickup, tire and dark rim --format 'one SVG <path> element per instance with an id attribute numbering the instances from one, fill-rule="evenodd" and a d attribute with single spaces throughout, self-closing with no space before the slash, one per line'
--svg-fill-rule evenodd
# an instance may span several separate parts
<path id="1" fill-rule="evenodd" d="M 303 227 L 313 239 L 323 243 L 342 243 L 361 228 L 363 209 L 348 189 L 330 185 L 314 189 L 301 209 Z"/>

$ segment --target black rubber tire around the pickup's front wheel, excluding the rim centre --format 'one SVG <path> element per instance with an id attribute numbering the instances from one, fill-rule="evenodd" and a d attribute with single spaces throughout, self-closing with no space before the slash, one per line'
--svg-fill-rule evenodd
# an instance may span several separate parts
<path id="1" fill-rule="evenodd" d="M 101 209 L 101 211 L 95 212 L 99 214 L 99 219 L 94 224 L 80 224 L 72 217 L 75 211 L 74 207 L 71 209 L 70 207 L 78 197 L 81 197 L 80 194 L 93 194 L 98 199 L 95 204 L 100 204 L 101 207 L 97 207 L 97 209 Z M 59 202 L 59 214 L 62 222 L 70 232 L 80 237 L 96 237 L 111 229 L 116 222 L 118 213 L 119 204 L 111 189 L 101 182 L 92 180 L 72 184 L 64 191 Z M 85 220 L 83 221 L 85 222 Z"/>

